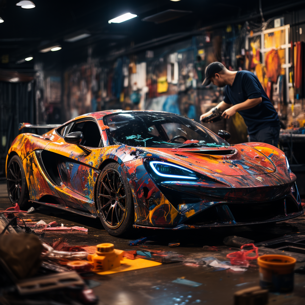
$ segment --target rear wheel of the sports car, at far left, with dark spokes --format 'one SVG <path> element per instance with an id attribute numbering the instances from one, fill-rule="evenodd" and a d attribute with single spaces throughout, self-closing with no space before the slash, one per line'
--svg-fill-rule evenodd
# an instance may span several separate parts
<path id="1" fill-rule="evenodd" d="M 27 180 L 19 156 L 13 156 L 9 160 L 6 174 L 6 185 L 9 199 L 13 205 L 18 203 L 21 210 L 28 209 L 29 205 L 29 189 Z"/>

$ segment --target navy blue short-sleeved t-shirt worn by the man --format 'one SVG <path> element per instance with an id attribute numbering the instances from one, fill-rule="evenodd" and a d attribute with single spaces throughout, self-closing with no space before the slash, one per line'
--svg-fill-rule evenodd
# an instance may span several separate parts
<path id="1" fill-rule="evenodd" d="M 227 104 L 236 105 L 247 99 L 259 97 L 262 98 L 262 102 L 258 105 L 238 111 L 248 127 L 249 135 L 268 126 L 279 126 L 278 113 L 268 99 L 260 81 L 252 72 L 238 71 L 232 86 L 226 85 L 224 88 L 224 102 Z"/>

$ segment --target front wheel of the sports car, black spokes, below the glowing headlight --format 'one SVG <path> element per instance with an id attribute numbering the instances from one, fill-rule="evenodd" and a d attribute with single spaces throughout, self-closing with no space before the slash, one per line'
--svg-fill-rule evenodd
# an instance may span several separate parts
<path id="1" fill-rule="evenodd" d="M 95 199 L 99 218 L 110 235 L 131 231 L 135 214 L 133 199 L 127 177 L 118 163 L 108 163 L 102 169 Z"/>

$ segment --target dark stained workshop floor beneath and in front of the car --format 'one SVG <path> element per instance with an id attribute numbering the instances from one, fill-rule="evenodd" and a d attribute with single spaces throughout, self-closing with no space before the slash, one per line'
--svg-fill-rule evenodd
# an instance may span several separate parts
<path id="1" fill-rule="evenodd" d="M 3 181 L 4 182 L 4 181 Z M 6 192 L 6 184 L 0 183 L 0 209 L 12 206 Z M 111 242 L 116 249 L 122 250 L 166 250 L 174 251 L 183 256 L 196 259 L 200 257 L 217 257 L 219 260 L 228 260 L 226 254 L 235 249 L 223 246 L 225 236 L 238 235 L 261 242 L 277 238 L 292 232 L 305 231 L 305 217 L 275 224 L 272 227 L 258 226 L 255 228 L 243 227 L 234 230 L 197 230 L 168 232 L 162 230 L 142 230 L 128 239 L 110 236 L 99 220 L 92 220 L 62 210 L 46 206 L 38 208 L 36 213 L 28 214 L 33 221 L 58 221 L 67 226 L 77 225 L 88 228 L 85 232 L 51 232 L 46 231 L 41 240 L 52 242 L 59 235 L 68 240 L 69 245 L 93 246 L 102 242 Z M 129 240 L 144 236 L 157 235 L 157 240 L 149 245 L 128 246 Z M 179 247 L 170 248 L 168 243 L 179 239 Z M 217 248 L 210 248 L 216 246 Z M 261 253 L 262 254 L 262 253 Z M 303 266 L 304 262 L 297 263 L 296 267 Z M 110 275 L 94 275 L 90 279 L 100 282 L 93 288 L 99 296 L 99 304 L 103 305 L 174 305 L 174 304 L 201 304 L 223 305 L 233 304 L 233 293 L 240 289 L 259 284 L 258 267 L 249 267 L 247 271 L 235 272 L 228 270 L 214 271 L 213 267 L 193 267 L 185 263 L 162 264 L 156 267 L 120 272 Z M 202 283 L 199 287 L 190 287 L 175 284 L 176 278 L 185 277 L 188 280 Z M 305 303 L 305 275 L 295 274 L 295 289 L 289 294 L 269 293 L 269 304 L 304 304 Z"/>

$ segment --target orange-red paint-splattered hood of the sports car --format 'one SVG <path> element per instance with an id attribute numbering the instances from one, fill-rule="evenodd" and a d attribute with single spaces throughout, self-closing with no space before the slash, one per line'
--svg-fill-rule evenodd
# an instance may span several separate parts
<path id="1" fill-rule="evenodd" d="M 262 175 L 276 170 L 267 156 L 246 144 L 215 148 L 142 148 L 142 150 L 203 174 Z"/>

